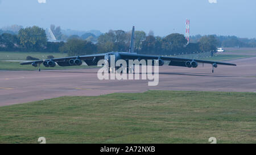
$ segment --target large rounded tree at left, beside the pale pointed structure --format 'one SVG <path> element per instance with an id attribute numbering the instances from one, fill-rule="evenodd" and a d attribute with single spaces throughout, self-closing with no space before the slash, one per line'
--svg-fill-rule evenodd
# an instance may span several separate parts
<path id="1" fill-rule="evenodd" d="M 18 38 L 20 44 L 28 50 L 40 51 L 46 47 L 46 31 L 37 26 L 22 28 L 19 30 Z"/>

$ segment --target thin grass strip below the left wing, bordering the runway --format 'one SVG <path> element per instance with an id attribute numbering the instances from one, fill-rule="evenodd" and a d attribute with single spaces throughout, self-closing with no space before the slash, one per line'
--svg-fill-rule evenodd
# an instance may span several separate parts
<path id="1" fill-rule="evenodd" d="M 9 61 L 0 61 L 0 70 L 38 70 L 38 68 L 35 68 L 32 65 L 20 65 L 20 62 L 9 62 Z M 56 65 L 54 68 L 48 67 L 46 68 L 44 65 L 41 65 L 40 68 L 42 70 L 52 70 L 52 69 L 82 69 L 82 68 L 96 68 L 97 66 L 87 66 L 87 65 L 81 65 L 81 66 L 66 66 L 61 67 L 59 65 Z"/>

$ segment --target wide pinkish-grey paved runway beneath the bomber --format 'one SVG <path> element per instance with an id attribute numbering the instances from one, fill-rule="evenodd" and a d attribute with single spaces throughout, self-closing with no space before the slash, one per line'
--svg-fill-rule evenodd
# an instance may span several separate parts
<path id="1" fill-rule="evenodd" d="M 100 80 L 97 68 L 70 70 L 0 70 L 0 106 L 61 96 L 141 93 L 147 90 L 256 92 L 256 57 L 226 61 L 237 66 L 159 67 L 159 85 L 148 80 Z"/>

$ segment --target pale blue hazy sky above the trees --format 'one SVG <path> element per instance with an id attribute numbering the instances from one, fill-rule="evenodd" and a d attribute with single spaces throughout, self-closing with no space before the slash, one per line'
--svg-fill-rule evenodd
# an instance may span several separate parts
<path id="1" fill-rule="evenodd" d="M 39 3 L 41 2 L 41 3 Z M 44 3 L 46 2 L 46 3 Z M 0 0 L 0 27 L 50 24 L 72 30 L 153 30 L 165 36 L 217 34 L 256 37 L 255 0 Z"/>

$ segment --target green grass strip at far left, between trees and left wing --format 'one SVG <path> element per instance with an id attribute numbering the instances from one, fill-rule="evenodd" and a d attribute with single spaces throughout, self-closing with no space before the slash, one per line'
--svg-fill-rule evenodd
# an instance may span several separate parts
<path id="1" fill-rule="evenodd" d="M 27 56 L 46 59 L 47 56 L 66 57 L 67 53 L 50 53 L 50 52 L 2 52 L 0 51 L 0 60 L 26 60 Z"/>

